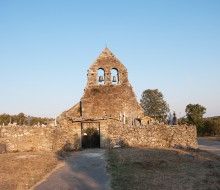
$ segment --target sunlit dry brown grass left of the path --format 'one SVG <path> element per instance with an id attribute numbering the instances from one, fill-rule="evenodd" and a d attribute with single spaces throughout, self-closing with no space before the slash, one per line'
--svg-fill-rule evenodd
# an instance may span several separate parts
<path id="1" fill-rule="evenodd" d="M 30 189 L 58 163 L 54 153 L 0 154 L 0 189 Z"/>

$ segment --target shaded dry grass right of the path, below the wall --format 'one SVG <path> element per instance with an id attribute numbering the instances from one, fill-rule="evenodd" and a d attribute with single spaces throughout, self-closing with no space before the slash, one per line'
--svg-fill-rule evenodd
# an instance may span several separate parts
<path id="1" fill-rule="evenodd" d="M 108 170 L 114 190 L 220 189 L 220 157 L 205 151 L 112 149 Z"/>

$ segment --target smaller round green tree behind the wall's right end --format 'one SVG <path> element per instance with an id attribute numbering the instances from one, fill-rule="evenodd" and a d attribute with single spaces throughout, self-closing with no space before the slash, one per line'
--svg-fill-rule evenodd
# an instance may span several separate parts
<path id="1" fill-rule="evenodd" d="M 188 124 L 196 125 L 198 128 L 203 127 L 203 115 L 206 108 L 199 104 L 188 104 L 185 109 Z"/>

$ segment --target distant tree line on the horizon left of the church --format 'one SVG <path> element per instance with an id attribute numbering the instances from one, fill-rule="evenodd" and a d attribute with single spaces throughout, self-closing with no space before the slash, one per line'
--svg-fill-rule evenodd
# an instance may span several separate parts
<path id="1" fill-rule="evenodd" d="M 18 115 L 10 115 L 10 114 L 1 114 L 0 115 L 0 125 L 9 125 L 9 124 L 16 124 L 16 125 L 48 125 L 53 118 L 42 118 L 42 117 L 34 117 L 25 115 L 24 113 L 19 113 Z"/>

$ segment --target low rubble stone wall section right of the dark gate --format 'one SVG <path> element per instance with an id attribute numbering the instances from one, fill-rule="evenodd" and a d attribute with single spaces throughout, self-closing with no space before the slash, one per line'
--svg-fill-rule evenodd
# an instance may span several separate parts
<path id="1" fill-rule="evenodd" d="M 195 126 L 148 125 L 131 127 L 110 125 L 107 133 L 110 147 L 119 144 L 131 147 L 198 148 Z"/>

